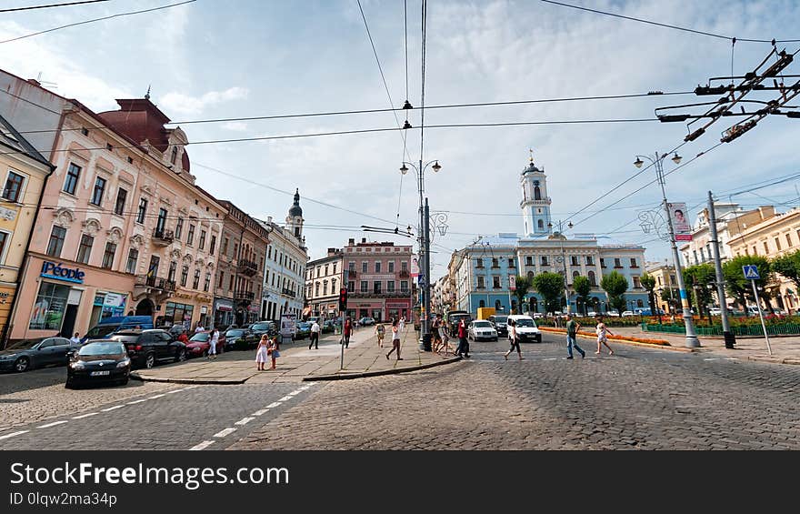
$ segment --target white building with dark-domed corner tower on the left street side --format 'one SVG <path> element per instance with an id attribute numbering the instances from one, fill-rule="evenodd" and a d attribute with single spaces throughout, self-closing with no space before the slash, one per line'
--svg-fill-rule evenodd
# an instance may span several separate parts
<path id="1" fill-rule="evenodd" d="M 264 287 L 261 299 L 261 318 L 278 321 L 282 314 L 303 314 L 305 267 L 308 249 L 303 236 L 303 209 L 300 191 L 295 191 L 292 207 L 283 227 L 268 217 L 265 226 L 271 227 L 270 245 L 266 249 Z"/>

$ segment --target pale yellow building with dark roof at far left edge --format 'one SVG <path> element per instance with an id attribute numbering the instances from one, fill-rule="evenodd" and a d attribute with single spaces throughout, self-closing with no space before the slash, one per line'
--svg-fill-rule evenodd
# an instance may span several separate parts
<path id="1" fill-rule="evenodd" d="M 20 268 L 51 165 L 14 126 L 0 116 L 0 325 L 5 347 L 9 317 L 20 285 Z"/>

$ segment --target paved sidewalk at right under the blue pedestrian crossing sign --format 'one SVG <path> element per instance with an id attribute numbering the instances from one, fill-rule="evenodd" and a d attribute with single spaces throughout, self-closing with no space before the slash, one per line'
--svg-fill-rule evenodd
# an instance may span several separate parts
<path id="1" fill-rule="evenodd" d="M 686 338 L 680 334 L 666 334 L 663 332 L 645 332 L 638 327 L 609 327 L 614 334 L 633 336 L 635 338 L 665 339 L 675 348 L 685 348 Z M 800 337 L 769 338 L 772 356 L 766 350 L 764 338 L 736 338 L 735 348 L 725 348 L 723 338 L 701 337 L 700 346 L 695 351 L 714 353 L 725 358 L 740 358 L 774 362 L 777 364 L 800 364 Z M 614 341 L 609 341 L 614 343 Z"/>

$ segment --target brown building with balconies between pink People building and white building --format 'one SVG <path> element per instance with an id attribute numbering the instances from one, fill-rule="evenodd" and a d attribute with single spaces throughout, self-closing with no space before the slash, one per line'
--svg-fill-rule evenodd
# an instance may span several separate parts
<path id="1" fill-rule="evenodd" d="M 265 226 L 227 200 L 215 279 L 214 324 L 229 327 L 260 319 L 266 248 L 272 227 Z"/>

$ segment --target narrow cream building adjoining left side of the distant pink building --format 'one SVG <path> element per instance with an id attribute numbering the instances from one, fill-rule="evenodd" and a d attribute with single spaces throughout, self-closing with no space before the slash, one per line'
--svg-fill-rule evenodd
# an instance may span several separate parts
<path id="1" fill-rule="evenodd" d="M 305 316 L 336 317 L 344 265 L 341 248 L 328 248 L 327 255 L 308 261 L 305 269 Z"/>

